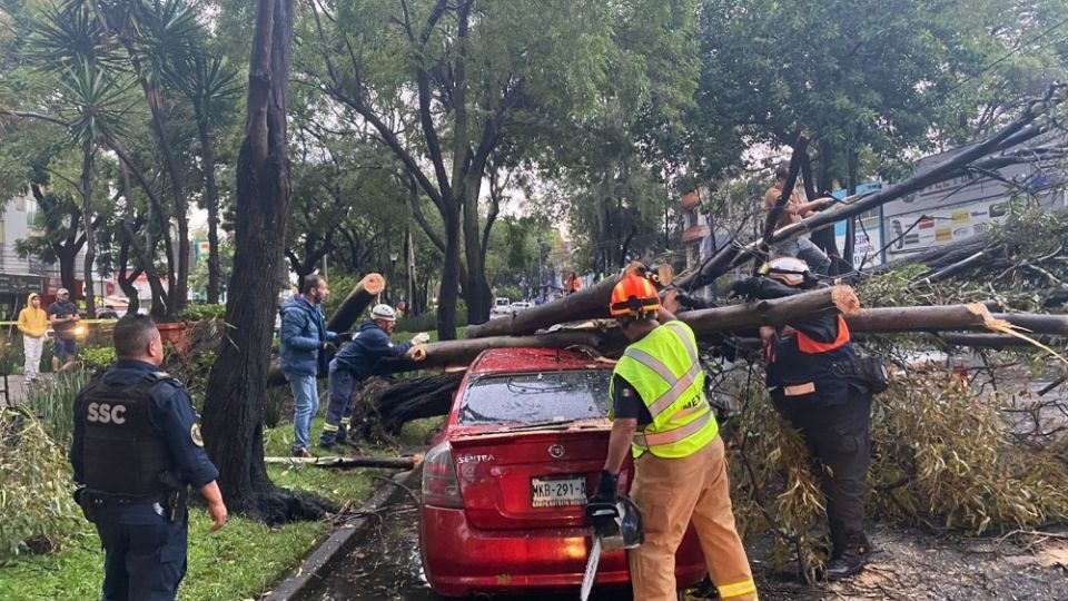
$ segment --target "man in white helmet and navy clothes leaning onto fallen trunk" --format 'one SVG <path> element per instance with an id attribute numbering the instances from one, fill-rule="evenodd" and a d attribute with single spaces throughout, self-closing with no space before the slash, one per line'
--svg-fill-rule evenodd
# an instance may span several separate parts
<path id="1" fill-rule="evenodd" d="M 346 444 L 347 431 L 353 416 L 349 402 L 353 391 L 368 376 L 376 374 L 382 359 L 397 358 L 412 346 L 424 344 L 429 336 L 422 332 L 412 342 L 393 344 L 389 335 L 397 325 L 397 314 L 389 305 L 376 305 L 370 311 L 370 322 L 359 326 L 347 344 L 330 362 L 330 404 L 326 412 L 326 423 L 319 436 L 319 446 L 330 449 L 335 443 Z M 355 442 L 353 442 L 355 445 Z"/>

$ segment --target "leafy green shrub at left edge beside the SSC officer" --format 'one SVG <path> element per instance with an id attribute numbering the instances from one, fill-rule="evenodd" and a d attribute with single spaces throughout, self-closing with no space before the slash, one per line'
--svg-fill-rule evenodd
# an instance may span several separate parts
<path id="1" fill-rule="evenodd" d="M 0 560 L 83 530 L 65 450 L 32 415 L 0 413 Z"/>

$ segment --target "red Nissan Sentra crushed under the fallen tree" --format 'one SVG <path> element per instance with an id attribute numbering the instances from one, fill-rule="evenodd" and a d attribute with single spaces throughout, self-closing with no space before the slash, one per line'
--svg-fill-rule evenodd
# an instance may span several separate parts
<path id="1" fill-rule="evenodd" d="M 591 548 L 583 505 L 607 454 L 604 363 L 545 348 L 486 351 L 472 363 L 423 464 L 419 549 L 434 592 L 574 589 Z M 620 480 L 632 482 L 627 461 Z M 693 528 L 675 555 L 680 588 L 704 560 Z M 625 551 L 605 552 L 597 584 L 630 582 Z"/>

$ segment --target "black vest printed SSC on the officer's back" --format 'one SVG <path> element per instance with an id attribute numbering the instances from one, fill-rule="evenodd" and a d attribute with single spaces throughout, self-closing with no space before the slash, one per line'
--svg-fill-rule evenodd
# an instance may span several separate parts
<path id="1" fill-rule="evenodd" d="M 106 384 L 97 377 L 86 387 L 81 404 L 86 486 L 129 496 L 164 492 L 159 473 L 174 461 L 148 414 L 152 388 L 169 378 L 162 372 L 146 373 L 135 384 Z"/>

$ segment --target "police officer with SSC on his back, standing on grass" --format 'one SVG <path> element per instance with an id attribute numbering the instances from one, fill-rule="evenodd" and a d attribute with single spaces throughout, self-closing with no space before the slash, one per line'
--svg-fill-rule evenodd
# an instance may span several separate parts
<path id="1" fill-rule="evenodd" d="M 211 531 L 226 523 L 218 470 L 204 451 L 181 383 L 159 371 L 156 324 L 127 315 L 115 325 L 115 367 L 75 402 L 70 462 L 86 518 L 106 552 L 105 601 L 172 600 L 186 573 L 194 486 L 208 502 Z"/>

